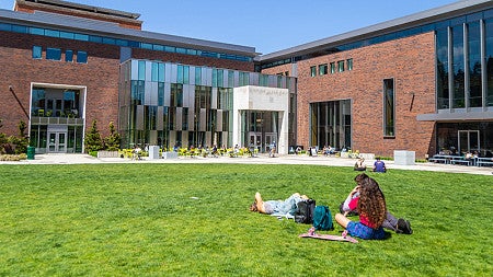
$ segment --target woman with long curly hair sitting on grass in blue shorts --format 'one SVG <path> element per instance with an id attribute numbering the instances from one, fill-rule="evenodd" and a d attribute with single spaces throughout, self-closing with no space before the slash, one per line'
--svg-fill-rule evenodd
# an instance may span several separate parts
<path id="1" fill-rule="evenodd" d="M 352 221 L 342 213 L 335 215 L 335 221 L 345 228 L 349 235 L 364 240 L 382 240 L 386 238 L 382 222 L 387 217 L 383 193 L 374 178 L 362 177 L 357 183 L 358 186 L 354 191 L 359 193 L 359 196 L 351 200 L 349 208 L 358 210 L 359 222 Z"/>

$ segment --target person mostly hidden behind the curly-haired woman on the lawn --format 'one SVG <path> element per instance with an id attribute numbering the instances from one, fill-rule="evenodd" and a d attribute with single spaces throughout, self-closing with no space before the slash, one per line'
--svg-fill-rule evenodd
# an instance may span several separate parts
<path id="1" fill-rule="evenodd" d="M 357 209 L 352 210 L 349 208 L 349 203 L 356 198 L 359 197 L 359 183 L 364 178 L 368 178 L 369 176 L 365 173 L 356 175 L 354 181 L 357 183 L 357 185 L 351 191 L 349 195 L 347 196 L 346 200 L 344 200 L 340 206 L 340 211 L 344 216 L 358 216 Z M 394 231 L 395 233 L 403 233 L 403 234 L 412 234 L 413 230 L 411 229 L 411 223 L 409 220 L 405 220 L 403 218 L 395 218 L 390 211 L 387 210 L 386 220 L 381 223 L 381 226 L 387 229 Z"/>

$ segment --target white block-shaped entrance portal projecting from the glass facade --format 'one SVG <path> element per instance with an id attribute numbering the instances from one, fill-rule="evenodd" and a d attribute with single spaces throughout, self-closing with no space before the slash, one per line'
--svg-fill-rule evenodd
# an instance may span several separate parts
<path id="1" fill-rule="evenodd" d="M 288 153 L 288 112 L 289 91 L 287 89 L 246 85 L 233 89 L 233 145 L 248 147 L 244 132 L 244 111 L 276 112 L 276 149 L 280 154 Z"/>

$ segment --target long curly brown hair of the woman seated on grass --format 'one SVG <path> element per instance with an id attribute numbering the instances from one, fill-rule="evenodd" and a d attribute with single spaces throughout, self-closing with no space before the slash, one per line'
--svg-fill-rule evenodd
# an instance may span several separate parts
<path id="1" fill-rule="evenodd" d="M 360 176 L 359 185 L 359 215 L 365 216 L 375 226 L 379 227 L 387 217 L 386 197 L 380 191 L 377 181 L 371 177 Z"/>

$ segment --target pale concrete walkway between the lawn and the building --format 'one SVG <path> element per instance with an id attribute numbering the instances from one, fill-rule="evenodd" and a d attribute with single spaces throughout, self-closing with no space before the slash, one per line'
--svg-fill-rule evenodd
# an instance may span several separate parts
<path id="1" fill-rule="evenodd" d="M 325 166 L 353 166 L 355 159 L 335 158 L 335 157 L 309 157 L 309 155 L 279 155 L 270 158 L 268 155 L 259 155 L 255 158 L 202 158 L 202 157 L 180 157 L 177 159 L 148 159 L 130 160 L 124 158 L 93 158 L 88 154 L 36 154 L 34 160 L 23 160 L 20 162 L 0 162 L 0 164 L 83 164 L 83 163 L 243 163 L 243 164 L 312 164 Z M 466 166 L 439 163 L 416 163 L 415 165 L 395 165 L 393 161 L 385 161 L 387 169 L 416 170 L 416 171 L 437 171 L 449 173 L 469 173 L 492 175 L 492 168 Z M 374 164 L 374 160 L 366 160 L 367 166 Z M 493 175 L 492 175 L 493 176 Z"/>

